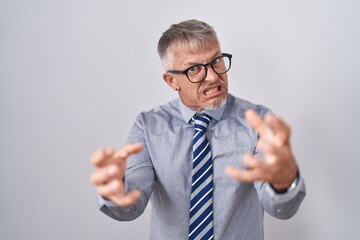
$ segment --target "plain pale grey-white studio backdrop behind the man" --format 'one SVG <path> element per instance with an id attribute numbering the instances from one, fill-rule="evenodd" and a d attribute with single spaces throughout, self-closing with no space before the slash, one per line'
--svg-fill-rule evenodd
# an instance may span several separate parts
<path id="1" fill-rule="evenodd" d="M 0 239 L 148 239 L 151 204 L 132 222 L 98 211 L 89 156 L 176 97 L 157 41 L 192 18 L 233 54 L 230 92 L 293 129 L 307 197 L 265 214 L 265 238 L 360 239 L 357 0 L 0 0 Z"/>

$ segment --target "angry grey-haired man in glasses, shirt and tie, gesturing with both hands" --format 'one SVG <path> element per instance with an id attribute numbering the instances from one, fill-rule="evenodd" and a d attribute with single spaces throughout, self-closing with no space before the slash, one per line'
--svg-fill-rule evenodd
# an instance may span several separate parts
<path id="1" fill-rule="evenodd" d="M 132 220 L 151 197 L 151 239 L 264 239 L 264 210 L 290 218 L 305 196 L 289 127 L 228 93 L 232 56 L 208 24 L 172 25 L 158 53 L 179 98 L 139 114 L 123 148 L 91 157 L 100 210 Z"/>

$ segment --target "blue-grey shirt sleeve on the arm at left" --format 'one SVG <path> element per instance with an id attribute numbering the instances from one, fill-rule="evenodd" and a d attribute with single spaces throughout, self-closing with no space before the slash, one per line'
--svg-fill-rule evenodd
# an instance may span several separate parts
<path id="1" fill-rule="evenodd" d="M 144 212 L 155 182 L 154 168 L 147 149 L 140 115 L 130 131 L 127 142 L 144 144 L 143 151 L 129 156 L 127 159 L 125 173 L 125 191 L 128 192 L 133 189 L 140 190 L 140 199 L 138 199 L 134 205 L 129 207 L 119 207 L 115 203 L 108 201 L 101 196 L 98 196 L 97 199 L 99 209 L 109 217 L 118 221 L 133 220 Z"/>

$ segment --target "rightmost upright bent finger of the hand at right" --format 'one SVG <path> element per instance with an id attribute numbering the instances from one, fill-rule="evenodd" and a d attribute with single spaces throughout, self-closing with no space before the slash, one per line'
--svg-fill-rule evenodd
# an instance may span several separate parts
<path id="1" fill-rule="evenodd" d="M 281 146 L 289 141 L 291 132 L 290 127 L 281 118 L 275 117 L 273 114 L 266 114 L 264 121 L 272 126 L 278 145 Z"/>

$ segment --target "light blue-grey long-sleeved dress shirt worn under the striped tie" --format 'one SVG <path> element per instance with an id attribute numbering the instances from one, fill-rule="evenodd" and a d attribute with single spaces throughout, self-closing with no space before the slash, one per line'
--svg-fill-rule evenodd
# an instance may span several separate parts
<path id="1" fill-rule="evenodd" d="M 301 176 L 294 189 L 277 194 L 268 183 L 243 183 L 224 173 L 227 166 L 244 168 L 241 159 L 246 152 L 262 157 L 256 150 L 258 134 L 244 119 L 244 111 L 250 108 L 261 116 L 269 111 L 231 94 L 222 108 L 203 111 L 213 118 L 207 138 L 213 155 L 215 240 L 262 240 L 264 210 L 287 219 L 305 197 Z M 135 205 L 121 208 L 99 197 L 102 212 L 129 221 L 140 216 L 151 199 L 150 239 L 187 239 L 194 135 L 191 118 L 195 113 L 175 99 L 138 115 L 128 142 L 143 143 L 145 149 L 129 157 L 125 179 L 127 189 L 141 190 L 141 198 Z"/>

